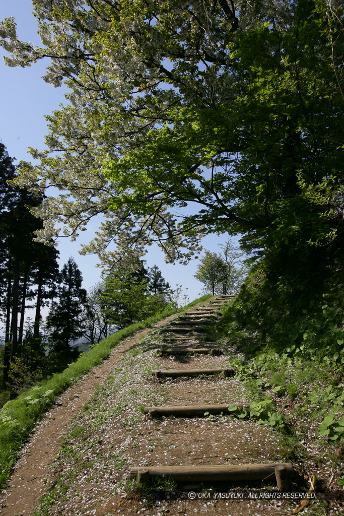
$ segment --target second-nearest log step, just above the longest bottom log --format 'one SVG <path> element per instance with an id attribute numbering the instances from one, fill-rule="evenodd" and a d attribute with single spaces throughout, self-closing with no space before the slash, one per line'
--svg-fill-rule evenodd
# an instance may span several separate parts
<path id="1" fill-rule="evenodd" d="M 144 407 L 143 413 L 150 417 L 175 416 L 175 417 L 204 417 L 209 414 L 231 415 L 228 407 L 232 404 L 220 405 L 171 405 L 163 407 Z M 248 405 L 237 405 L 241 409 L 247 409 Z"/>

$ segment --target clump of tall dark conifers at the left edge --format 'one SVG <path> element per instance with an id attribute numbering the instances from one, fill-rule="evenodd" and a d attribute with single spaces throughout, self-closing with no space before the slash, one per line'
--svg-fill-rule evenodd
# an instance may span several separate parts
<path id="1" fill-rule="evenodd" d="M 4 383 L 10 361 L 21 355 L 26 304 L 36 297 L 32 287 L 37 285 L 39 314 L 42 298 L 49 295 L 58 272 L 57 251 L 34 241 L 34 232 L 42 227 L 42 221 L 29 212 L 28 206 L 37 206 L 42 199 L 8 183 L 16 176 L 13 160 L 0 143 L 0 317 L 7 343 Z M 48 284 L 44 286 L 43 282 Z"/>

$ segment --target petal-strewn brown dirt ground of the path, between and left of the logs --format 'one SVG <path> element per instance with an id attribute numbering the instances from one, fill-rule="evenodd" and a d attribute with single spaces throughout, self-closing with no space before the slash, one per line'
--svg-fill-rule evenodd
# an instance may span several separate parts
<path id="1" fill-rule="evenodd" d="M 270 516 L 281 511 L 265 501 L 188 499 L 186 487 L 179 492 L 172 485 L 162 490 L 160 486 L 152 497 L 129 479 L 133 466 L 279 462 L 278 437 L 253 421 L 227 415 L 155 419 L 143 414 L 147 406 L 249 402 L 236 378 L 152 375 L 156 369 L 231 368 L 234 352 L 160 356 L 161 347 L 186 345 L 175 342 L 176 334 L 194 336 L 188 341 L 193 348 L 216 346 L 206 339 L 207 320 L 200 312 L 181 314 L 163 327 L 176 317 L 172 316 L 156 331 L 146 330 L 123 342 L 101 367 L 61 396 L 62 405 L 47 414 L 25 447 L 2 516 L 32 516 L 35 510 L 37 516 Z M 140 346 L 128 351 L 144 335 Z M 199 491 L 202 485 L 196 482 L 188 489 Z M 226 489 L 235 486 L 227 484 Z"/>

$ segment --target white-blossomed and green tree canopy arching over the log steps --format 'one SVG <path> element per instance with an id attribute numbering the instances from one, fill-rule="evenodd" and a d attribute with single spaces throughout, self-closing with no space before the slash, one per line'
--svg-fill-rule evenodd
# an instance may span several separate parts
<path id="1" fill-rule="evenodd" d="M 187 262 L 206 233 L 326 244 L 343 227 L 343 11 L 336 0 L 35 0 L 42 47 L 0 27 L 9 66 L 48 57 L 70 87 L 48 116 L 49 151 L 20 185 L 85 252 L 140 257 L 157 241 Z M 57 153 L 57 154 L 56 154 Z M 114 250 L 109 247 L 114 243 Z"/>

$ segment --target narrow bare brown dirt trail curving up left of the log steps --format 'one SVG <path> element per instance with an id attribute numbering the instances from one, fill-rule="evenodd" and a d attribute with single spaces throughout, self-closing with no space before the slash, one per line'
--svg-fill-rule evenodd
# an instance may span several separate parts
<path id="1" fill-rule="evenodd" d="M 67 431 L 73 416 L 92 396 L 96 385 L 105 381 L 125 351 L 134 346 L 144 335 L 179 315 L 173 314 L 158 322 L 153 328 L 128 337 L 112 350 L 106 361 L 93 368 L 60 396 L 57 400 L 58 405 L 46 413 L 32 438 L 23 448 L 22 456 L 15 465 L 9 481 L 9 487 L 0 499 L 1 516 L 32 514 L 39 499 L 46 492 L 44 482 L 50 476 L 50 466 L 61 448 L 61 437 Z"/>

